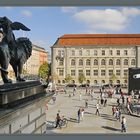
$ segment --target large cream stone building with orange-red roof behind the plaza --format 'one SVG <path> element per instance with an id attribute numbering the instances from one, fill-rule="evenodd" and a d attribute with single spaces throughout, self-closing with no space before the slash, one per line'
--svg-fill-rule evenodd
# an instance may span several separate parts
<path id="1" fill-rule="evenodd" d="M 127 84 L 129 67 L 140 67 L 140 34 L 68 34 L 52 46 L 56 83 L 84 74 L 86 83 Z"/>

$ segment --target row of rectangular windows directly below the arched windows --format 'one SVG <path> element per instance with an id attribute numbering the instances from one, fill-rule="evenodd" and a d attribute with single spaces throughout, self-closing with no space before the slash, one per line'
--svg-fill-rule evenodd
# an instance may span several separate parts
<path id="1" fill-rule="evenodd" d="M 100 71 L 101 76 L 105 76 L 106 75 L 106 70 L 101 70 Z M 82 75 L 84 74 L 83 70 L 78 70 L 78 75 Z M 128 70 L 124 70 L 123 71 L 124 76 L 128 75 Z M 93 75 L 94 76 L 99 76 L 99 70 L 93 70 Z M 108 75 L 112 76 L 113 75 L 113 70 L 108 70 Z M 116 76 L 120 76 L 121 75 L 121 70 L 116 70 Z M 59 76 L 64 76 L 64 70 L 63 69 L 59 69 Z M 71 70 L 71 76 L 76 76 L 76 70 Z M 85 71 L 85 76 L 91 76 L 91 70 L 86 70 Z"/>

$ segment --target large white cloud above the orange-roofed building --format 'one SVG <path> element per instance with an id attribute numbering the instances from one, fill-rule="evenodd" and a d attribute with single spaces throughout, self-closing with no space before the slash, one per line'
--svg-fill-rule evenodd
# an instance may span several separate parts
<path id="1" fill-rule="evenodd" d="M 105 10 L 83 10 L 74 14 L 74 18 L 86 25 L 87 31 L 121 31 L 128 27 L 135 16 L 140 15 L 138 8 Z"/>

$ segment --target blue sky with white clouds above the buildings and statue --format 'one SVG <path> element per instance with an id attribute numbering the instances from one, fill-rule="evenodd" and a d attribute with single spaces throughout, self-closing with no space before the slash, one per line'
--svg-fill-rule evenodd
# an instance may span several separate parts
<path id="1" fill-rule="evenodd" d="M 3 16 L 30 28 L 24 35 L 49 52 L 64 34 L 140 33 L 140 7 L 0 7 Z"/>

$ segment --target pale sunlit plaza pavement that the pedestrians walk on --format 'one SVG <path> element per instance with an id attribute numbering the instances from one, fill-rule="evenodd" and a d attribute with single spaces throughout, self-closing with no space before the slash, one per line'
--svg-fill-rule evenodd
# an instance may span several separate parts
<path id="1" fill-rule="evenodd" d="M 110 133 L 120 134 L 121 123 L 112 116 L 112 105 L 116 105 L 116 97 L 108 98 L 107 106 L 100 109 L 100 116 L 95 115 L 97 97 L 99 93 L 95 93 L 93 101 L 89 95 L 85 95 L 85 89 L 77 89 L 75 96 L 69 97 L 68 93 L 72 94 L 72 88 L 67 90 L 67 94 L 59 93 L 56 95 L 56 103 L 53 104 L 52 100 L 48 103 L 48 110 L 46 111 L 46 121 L 54 121 L 56 114 L 60 111 L 60 115 L 64 115 L 67 118 L 71 118 L 68 121 L 66 128 L 60 129 L 54 127 L 47 127 L 47 134 L 95 134 L 95 133 Z M 80 101 L 79 93 L 82 94 L 82 100 Z M 85 108 L 84 120 L 77 123 L 77 111 L 80 107 L 85 107 L 85 99 L 88 99 L 89 107 Z M 140 134 L 140 118 L 122 114 L 127 120 L 127 133 Z"/>

